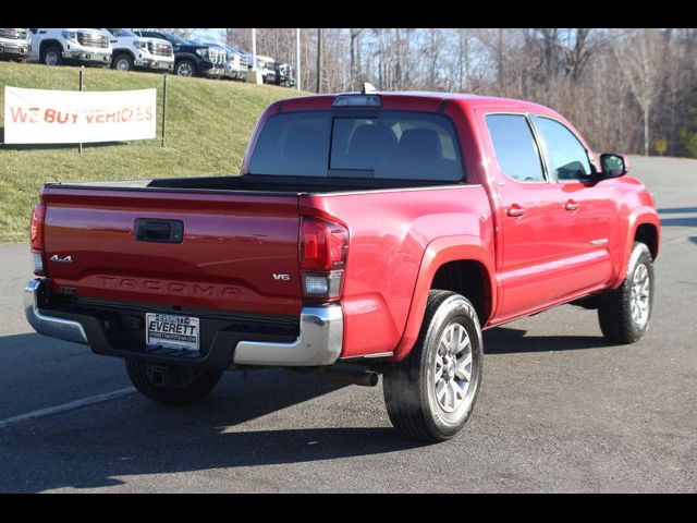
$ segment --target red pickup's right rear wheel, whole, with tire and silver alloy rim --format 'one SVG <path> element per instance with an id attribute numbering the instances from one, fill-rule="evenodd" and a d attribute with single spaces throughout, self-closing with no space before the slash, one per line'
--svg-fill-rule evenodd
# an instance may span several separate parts
<path id="1" fill-rule="evenodd" d="M 472 303 L 454 292 L 430 291 L 412 352 L 384 372 L 392 425 L 421 441 L 452 438 L 472 414 L 481 364 L 481 328 Z"/>

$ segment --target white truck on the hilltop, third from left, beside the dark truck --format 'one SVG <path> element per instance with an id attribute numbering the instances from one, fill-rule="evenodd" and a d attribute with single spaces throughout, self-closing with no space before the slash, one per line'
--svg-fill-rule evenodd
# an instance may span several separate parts
<path id="1" fill-rule="evenodd" d="M 134 69 L 174 69 L 174 50 L 162 38 L 138 36 L 129 29 L 103 29 L 110 34 L 112 49 L 111 68 L 119 71 Z"/>

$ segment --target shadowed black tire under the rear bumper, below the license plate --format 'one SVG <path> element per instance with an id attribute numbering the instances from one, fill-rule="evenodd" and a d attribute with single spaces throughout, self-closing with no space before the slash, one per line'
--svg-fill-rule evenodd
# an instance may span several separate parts
<path id="1" fill-rule="evenodd" d="M 222 376 L 222 373 L 201 372 L 187 387 L 164 387 L 150 381 L 145 362 L 126 360 L 125 364 L 131 382 L 138 392 L 149 400 L 166 405 L 189 405 L 203 401 Z"/>

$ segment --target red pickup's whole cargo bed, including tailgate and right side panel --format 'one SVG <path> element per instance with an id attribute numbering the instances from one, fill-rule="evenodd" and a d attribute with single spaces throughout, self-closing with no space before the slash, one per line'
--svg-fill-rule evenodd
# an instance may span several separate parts
<path id="1" fill-rule="evenodd" d="M 341 305 L 351 357 L 399 343 L 429 239 L 466 235 L 493 248 L 479 184 L 289 182 L 243 175 L 47 184 L 44 264 L 51 292 L 90 306 L 297 321 L 301 217 L 313 216 L 348 229 Z M 139 220 L 181 221 L 182 241 L 138 241 Z"/>

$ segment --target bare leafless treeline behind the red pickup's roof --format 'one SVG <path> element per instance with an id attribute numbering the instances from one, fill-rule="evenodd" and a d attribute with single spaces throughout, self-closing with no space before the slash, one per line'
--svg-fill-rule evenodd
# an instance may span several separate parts
<path id="1" fill-rule="evenodd" d="M 222 29 L 250 49 L 250 29 Z M 319 29 L 301 29 L 315 90 Z M 525 98 L 572 120 L 597 150 L 697 156 L 697 29 L 325 28 L 322 93 L 382 90 Z M 257 52 L 295 65 L 295 29 L 257 29 Z"/>

